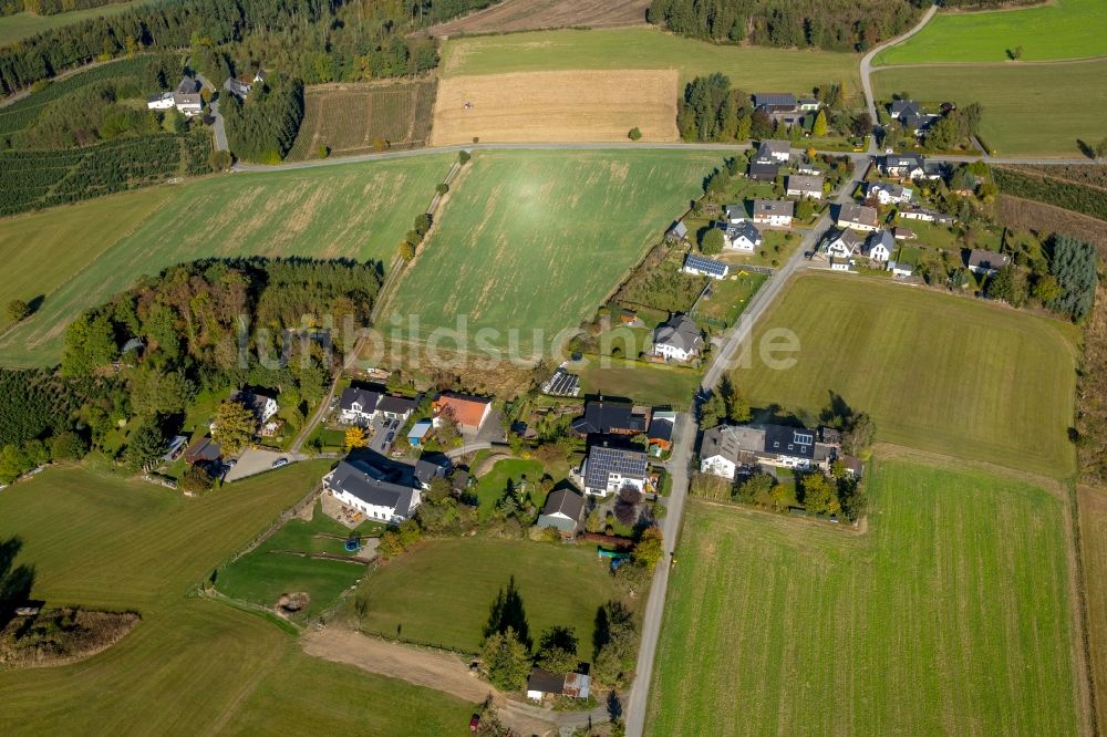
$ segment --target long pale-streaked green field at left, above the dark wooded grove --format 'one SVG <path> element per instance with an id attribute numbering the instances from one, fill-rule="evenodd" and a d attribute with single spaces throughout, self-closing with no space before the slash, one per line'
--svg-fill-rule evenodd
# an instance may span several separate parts
<path id="1" fill-rule="evenodd" d="M 42 220 L 63 218 L 73 238 L 52 243 L 76 251 L 85 264 L 73 278 L 45 293 L 41 309 L 0 338 L 6 365 L 46 365 L 61 356 L 65 325 L 89 307 L 130 287 L 142 274 L 193 259 L 219 256 L 308 256 L 376 259 L 387 264 L 396 245 L 434 195 L 449 168 L 445 154 L 312 169 L 239 173 L 193 181 L 169 190 L 164 207 L 94 258 L 84 255 L 89 238 L 106 242 L 124 230 L 113 215 L 128 207 L 148 208 L 152 195 L 137 193 L 59 208 Z M 18 237 L 33 218 L 0 220 L 0 258 L 19 256 Z M 14 235 L 9 235 L 14 233 Z M 79 237 L 80 233 L 84 233 Z M 25 288 L 50 283 L 52 260 L 29 262 Z M 24 288 L 24 291 L 25 291 Z M 33 289 L 31 291 L 34 291 Z M 25 299 L 25 298 L 24 298 Z"/>

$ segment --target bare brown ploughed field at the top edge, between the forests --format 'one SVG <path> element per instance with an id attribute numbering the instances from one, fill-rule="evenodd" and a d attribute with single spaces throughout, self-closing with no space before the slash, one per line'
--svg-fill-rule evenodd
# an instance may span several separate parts
<path id="1" fill-rule="evenodd" d="M 633 25 L 645 22 L 649 7 L 650 0 L 507 0 L 439 23 L 431 29 L 431 35 Z"/>

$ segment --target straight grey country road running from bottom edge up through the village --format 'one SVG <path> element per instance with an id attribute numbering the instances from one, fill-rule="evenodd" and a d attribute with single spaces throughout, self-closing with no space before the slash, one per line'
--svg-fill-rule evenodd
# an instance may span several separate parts
<path id="1" fill-rule="evenodd" d="M 849 201 L 853 189 L 865 177 L 869 166 L 869 157 L 855 157 L 853 176 L 842 185 L 838 191 L 835 204 Z M 724 336 L 722 345 L 716 347 L 707 371 L 704 372 L 703 381 L 696 392 L 697 397 L 693 401 L 692 412 L 682 413 L 676 427 L 676 440 L 673 444 L 673 454 L 666 464 L 669 473 L 673 478 L 673 490 L 665 501 L 666 512 L 662 519 L 662 531 L 664 532 L 665 557 L 664 561 L 672 559 L 676 548 L 677 538 L 681 531 L 681 522 L 684 516 L 684 501 L 687 499 L 689 480 L 691 477 L 691 465 L 694 453 L 696 427 L 696 405 L 699 398 L 707 392 L 713 391 L 722 381 L 727 370 L 732 365 L 737 351 L 748 341 L 753 340 L 754 325 L 765 316 L 776 299 L 784 292 L 784 288 L 797 271 L 805 268 L 807 251 L 815 250 L 819 237 L 830 226 L 830 211 L 823 215 L 818 221 L 804 236 L 804 240 L 796 248 L 792 258 L 769 277 L 765 286 L 762 287 L 749 307 Z M 650 598 L 645 603 L 645 614 L 642 619 L 642 644 L 638 653 L 638 672 L 634 675 L 634 683 L 631 685 L 627 696 L 624 713 L 627 714 L 627 734 L 629 737 L 641 737 L 645 729 L 646 707 L 649 705 L 650 686 L 653 681 L 653 664 L 658 652 L 658 639 L 661 635 L 661 625 L 664 619 L 665 595 L 669 588 L 669 572 L 671 567 L 664 562 L 658 565 L 653 574 L 653 584 L 650 588 Z"/>

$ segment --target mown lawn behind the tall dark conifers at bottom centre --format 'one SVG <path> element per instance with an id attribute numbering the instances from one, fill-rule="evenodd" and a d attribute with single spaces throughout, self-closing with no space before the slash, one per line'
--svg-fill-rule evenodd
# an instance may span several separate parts
<path id="1" fill-rule="evenodd" d="M 597 609 L 614 593 L 590 546 L 482 537 L 424 541 L 362 582 L 361 626 L 475 653 L 496 594 L 511 575 L 530 636 L 555 624 L 571 626 L 581 656 L 591 657 Z"/>

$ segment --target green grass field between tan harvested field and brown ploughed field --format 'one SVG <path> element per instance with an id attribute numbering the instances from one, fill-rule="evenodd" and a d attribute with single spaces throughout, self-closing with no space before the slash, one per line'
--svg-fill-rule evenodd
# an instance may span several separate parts
<path id="1" fill-rule="evenodd" d="M 859 58 L 829 51 L 725 46 L 662 33 L 654 28 L 536 31 L 451 39 L 442 51 L 446 77 L 568 70 L 675 69 L 683 85 L 722 72 L 747 92 L 808 92 L 841 82 L 860 87 Z"/>

